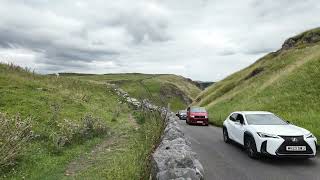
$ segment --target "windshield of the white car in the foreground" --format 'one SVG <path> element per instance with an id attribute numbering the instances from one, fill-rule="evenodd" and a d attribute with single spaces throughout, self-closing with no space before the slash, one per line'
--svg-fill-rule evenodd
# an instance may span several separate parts
<path id="1" fill-rule="evenodd" d="M 249 125 L 286 125 L 284 120 L 274 114 L 247 114 L 247 123 Z"/>

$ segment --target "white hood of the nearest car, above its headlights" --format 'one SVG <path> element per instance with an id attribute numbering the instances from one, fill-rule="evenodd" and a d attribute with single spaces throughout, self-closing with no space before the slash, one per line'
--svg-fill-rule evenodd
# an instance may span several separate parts
<path id="1" fill-rule="evenodd" d="M 310 133 L 308 130 L 298 126 L 288 125 L 250 125 L 256 132 L 282 135 L 282 136 L 299 136 Z"/>

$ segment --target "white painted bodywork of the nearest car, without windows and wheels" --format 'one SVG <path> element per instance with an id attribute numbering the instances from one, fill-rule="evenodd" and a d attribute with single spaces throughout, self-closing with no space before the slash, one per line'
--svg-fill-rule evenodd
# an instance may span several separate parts
<path id="1" fill-rule="evenodd" d="M 244 124 L 240 124 L 239 122 L 235 122 L 230 120 L 230 116 L 234 113 L 241 114 L 244 117 Z M 224 121 L 223 126 L 227 129 L 229 138 L 241 145 L 244 145 L 244 134 L 249 133 L 254 138 L 257 151 L 261 153 L 261 145 L 264 141 L 267 141 L 266 151 L 270 155 L 288 155 L 288 154 L 280 154 L 277 153 L 277 150 L 280 146 L 285 142 L 285 139 L 280 136 L 303 136 L 304 141 L 310 146 L 312 149 L 313 156 L 316 155 L 316 144 L 317 139 L 307 138 L 306 135 L 310 134 L 310 131 L 292 125 L 248 125 L 246 122 L 246 114 L 272 114 L 270 112 L 264 111 L 241 111 L 241 112 L 233 112 L 231 113 L 227 119 Z M 271 135 L 276 135 L 277 138 L 267 138 L 267 137 L 260 137 L 257 133 L 266 133 Z M 290 137 L 291 138 L 291 137 Z M 294 144 L 293 144 L 294 145 Z M 303 154 L 303 152 L 299 152 L 297 154 L 290 153 L 290 156 L 299 156 L 299 155 L 310 155 L 310 154 Z"/>

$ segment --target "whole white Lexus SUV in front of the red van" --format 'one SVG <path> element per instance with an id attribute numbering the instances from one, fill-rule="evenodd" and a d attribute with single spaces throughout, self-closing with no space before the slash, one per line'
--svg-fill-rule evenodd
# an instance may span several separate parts
<path id="1" fill-rule="evenodd" d="M 317 139 L 310 131 L 292 125 L 273 113 L 231 113 L 223 123 L 223 139 L 245 147 L 249 157 L 259 154 L 281 157 L 315 157 Z"/>

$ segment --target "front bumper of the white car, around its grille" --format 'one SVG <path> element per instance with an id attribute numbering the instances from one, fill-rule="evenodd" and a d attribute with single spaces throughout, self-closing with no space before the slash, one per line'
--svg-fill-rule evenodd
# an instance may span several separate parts
<path id="1" fill-rule="evenodd" d="M 297 142 L 292 142 L 297 138 Z M 281 138 L 260 138 L 257 143 L 258 151 L 263 155 L 278 157 L 315 157 L 316 140 L 304 136 L 281 136 Z M 257 142 L 257 141 L 256 141 Z M 260 143 L 259 143 L 260 142 Z M 287 151 L 286 146 L 306 146 L 306 151 Z"/>

